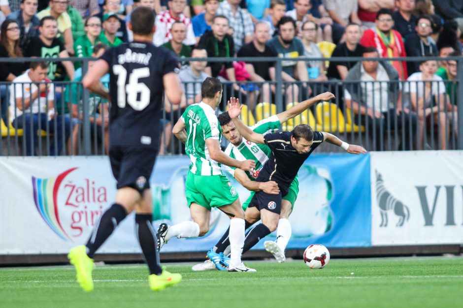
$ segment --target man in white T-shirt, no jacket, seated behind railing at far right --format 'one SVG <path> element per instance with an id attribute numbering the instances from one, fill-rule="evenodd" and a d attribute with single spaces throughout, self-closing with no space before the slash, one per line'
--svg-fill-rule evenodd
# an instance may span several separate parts
<path id="1" fill-rule="evenodd" d="M 436 124 L 439 131 L 441 150 L 447 148 L 449 135 L 449 120 L 447 117 L 447 95 L 442 78 L 436 75 L 437 61 L 423 61 L 420 72 L 416 72 L 407 79 L 404 92 L 410 93 L 412 110 L 418 114 L 420 130 L 418 134 L 418 149 L 423 149 L 424 127 L 427 123 Z M 431 122 L 431 117 L 432 122 Z"/>

